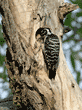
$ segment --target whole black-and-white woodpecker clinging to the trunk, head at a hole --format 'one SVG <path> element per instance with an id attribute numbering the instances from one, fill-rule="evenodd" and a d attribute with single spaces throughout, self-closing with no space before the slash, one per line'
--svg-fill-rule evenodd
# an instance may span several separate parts
<path id="1" fill-rule="evenodd" d="M 39 35 L 39 36 L 38 36 Z M 49 78 L 56 75 L 56 69 L 59 60 L 60 43 L 57 35 L 54 35 L 50 28 L 39 28 L 35 35 L 37 41 L 44 44 L 43 56 L 46 67 L 49 70 Z"/>

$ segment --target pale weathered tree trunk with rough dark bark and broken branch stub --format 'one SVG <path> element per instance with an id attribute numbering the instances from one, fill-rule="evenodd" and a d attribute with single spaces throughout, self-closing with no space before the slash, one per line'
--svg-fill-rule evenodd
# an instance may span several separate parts
<path id="1" fill-rule="evenodd" d="M 71 75 L 62 50 L 63 19 L 78 6 L 63 0 L 3 0 L 0 10 L 8 45 L 6 67 L 18 109 L 82 110 L 82 91 Z M 48 27 L 60 40 L 56 77 L 49 79 L 35 32 Z M 39 50 L 39 51 L 37 51 Z M 28 108 L 27 108 L 28 109 Z"/>

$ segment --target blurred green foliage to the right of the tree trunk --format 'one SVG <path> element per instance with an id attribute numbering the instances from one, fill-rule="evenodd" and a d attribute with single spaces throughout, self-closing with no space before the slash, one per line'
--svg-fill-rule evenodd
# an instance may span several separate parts
<path id="1" fill-rule="evenodd" d="M 82 73 L 81 73 L 81 69 L 82 69 L 82 57 L 80 56 L 80 53 L 82 53 L 82 21 L 79 22 L 78 21 L 78 17 L 82 17 L 82 0 L 70 0 L 73 4 L 78 4 L 78 6 L 80 7 L 80 11 L 76 12 L 75 14 L 69 13 L 66 17 L 66 20 L 64 22 L 64 25 L 69 26 L 73 31 L 73 35 L 71 35 L 69 38 L 67 37 L 67 39 L 65 41 L 63 41 L 63 43 L 65 42 L 70 42 L 73 41 L 74 45 L 71 47 L 70 46 L 70 60 L 74 69 L 74 73 L 76 73 L 76 81 L 78 84 L 80 84 L 81 80 L 82 80 Z M 82 19 L 82 18 L 81 18 Z M 75 26 L 72 26 L 71 23 L 72 21 L 74 21 L 74 23 L 76 23 Z M 78 34 L 79 37 L 76 37 L 75 35 Z M 74 51 L 74 48 L 76 48 L 76 45 L 80 46 L 80 49 L 77 51 Z M 82 55 L 82 54 L 81 54 Z M 76 70 L 76 64 L 75 61 L 79 61 L 81 64 L 81 68 L 79 71 Z"/>

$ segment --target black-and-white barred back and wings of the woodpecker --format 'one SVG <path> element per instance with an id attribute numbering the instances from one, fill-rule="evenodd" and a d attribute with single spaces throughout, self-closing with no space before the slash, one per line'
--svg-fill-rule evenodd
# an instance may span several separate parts
<path id="1" fill-rule="evenodd" d="M 59 58 L 60 43 L 56 35 L 48 35 L 44 42 L 45 62 L 48 69 L 55 69 L 55 65 Z"/>

